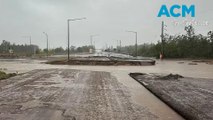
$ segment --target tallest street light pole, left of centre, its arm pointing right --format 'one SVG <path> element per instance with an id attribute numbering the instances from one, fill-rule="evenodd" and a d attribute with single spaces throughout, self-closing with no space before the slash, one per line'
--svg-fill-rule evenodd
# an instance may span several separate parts
<path id="1" fill-rule="evenodd" d="M 68 52 L 68 61 L 70 60 L 70 21 L 76 21 L 76 20 L 83 20 L 83 19 L 86 19 L 85 17 L 84 18 L 74 18 L 74 19 L 67 19 L 67 32 L 68 32 L 68 35 L 67 35 L 67 39 L 68 39 L 68 48 L 67 48 L 67 52 Z"/>

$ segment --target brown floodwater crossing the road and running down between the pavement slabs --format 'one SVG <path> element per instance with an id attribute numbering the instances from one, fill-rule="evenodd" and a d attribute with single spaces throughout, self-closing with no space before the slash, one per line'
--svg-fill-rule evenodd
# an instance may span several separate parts
<path id="1" fill-rule="evenodd" d="M 42 61 L 0 60 L 0 69 L 5 72 L 19 72 L 19 73 L 28 72 L 35 69 L 56 69 L 56 68 L 86 70 L 88 72 L 90 71 L 104 71 L 104 73 L 108 72 L 116 78 L 116 81 L 118 81 L 124 86 L 125 89 L 123 89 L 123 91 L 129 91 L 129 96 L 132 99 L 131 104 L 146 109 L 147 111 L 143 112 L 144 118 L 147 118 L 149 116 L 150 119 L 181 120 L 183 118 L 179 116 L 176 112 L 174 112 L 171 108 L 169 108 L 166 104 L 161 102 L 154 95 L 152 95 L 143 86 L 141 86 L 131 77 L 129 77 L 128 74 L 130 72 L 167 73 L 167 74 L 175 73 L 187 77 L 213 78 L 213 65 L 208 65 L 205 63 L 197 63 L 197 65 L 189 65 L 191 61 L 181 61 L 181 62 L 157 61 L 157 64 L 155 66 L 68 66 L 68 65 L 48 65 L 48 64 L 41 64 L 40 62 Z M 66 86 L 66 84 L 64 85 Z M 60 87 L 63 88 L 63 86 Z M 0 94 L 2 95 L 3 93 Z M 51 111 L 49 112 L 51 113 Z M 60 112 L 61 111 L 58 111 L 56 113 L 61 114 Z"/>

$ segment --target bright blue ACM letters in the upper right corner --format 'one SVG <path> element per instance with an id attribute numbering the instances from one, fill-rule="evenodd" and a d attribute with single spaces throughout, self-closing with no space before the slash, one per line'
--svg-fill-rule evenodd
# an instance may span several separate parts
<path id="1" fill-rule="evenodd" d="M 169 9 L 166 5 L 162 5 L 158 13 L 158 17 L 186 17 L 187 15 L 195 17 L 195 5 L 172 5 Z"/>

